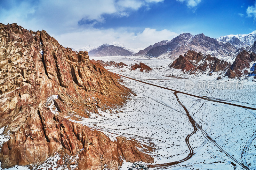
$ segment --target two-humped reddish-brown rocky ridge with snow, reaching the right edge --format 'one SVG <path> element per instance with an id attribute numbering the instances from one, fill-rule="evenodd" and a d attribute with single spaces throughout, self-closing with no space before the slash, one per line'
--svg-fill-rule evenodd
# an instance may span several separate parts
<path id="1" fill-rule="evenodd" d="M 188 51 L 184 56 L 180 55 L 168 67 L 181 69 L 182 72 L 187 72 L 190 75 L 204 73 L 213 75 L 213 72 L 220 72 L 220 74 L 225 73 L 228 78 L 241 78 L 243 76 L 246 77 L 250 73 L 256 73 L 255 68 L 251 68 L 255 61 L 256 55 L 245 50 L 236 56 L 232 64 L 211 55 L 203 56 L 201 53 Z M 250 71 L 251 69 L 252 71 Z"/>

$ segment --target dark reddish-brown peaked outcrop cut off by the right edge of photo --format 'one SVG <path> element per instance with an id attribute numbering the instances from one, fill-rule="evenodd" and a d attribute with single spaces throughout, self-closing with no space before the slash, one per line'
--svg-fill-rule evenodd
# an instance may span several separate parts
<path id="1" fill-rule="evenodd" d="M 256 61 L 256 54 L 253 52 L 242 51 L 236 56 L 230 70 L 235 72 L 238 77 L 247 76 L 251 64 Z M 233 74 L 227 74 L 229 78 L 234 78 Z"/>

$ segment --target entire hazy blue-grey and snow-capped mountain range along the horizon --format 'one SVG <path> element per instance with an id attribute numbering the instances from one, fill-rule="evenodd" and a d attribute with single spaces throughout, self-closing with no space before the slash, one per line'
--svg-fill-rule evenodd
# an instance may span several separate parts
<path id="1" fill-rule="evenodd" d="M 127 48 L 118 42 L 99 47 L 85 46 L 77 51 L 88 51 L 90 56 L 135 55 L 176 59 L 187 51 L 194 50 L 203 55 L 210 54 L 223 60 L 234 60 L 243 50 L 256 52 L 254 41 L 256 41 L 256 31 L 249 34 L 221 36 L 218 39 L 205 36 L 203 33 L 197 35 L 182 33 L 171 41 L 160 41 L 140 51 Z"/>

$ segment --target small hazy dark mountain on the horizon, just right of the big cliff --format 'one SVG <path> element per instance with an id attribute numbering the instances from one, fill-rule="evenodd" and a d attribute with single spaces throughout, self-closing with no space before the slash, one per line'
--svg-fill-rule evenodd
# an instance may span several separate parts
<path id="1" fill-rule="evenodd" d="M 92 49 L 89 51 L 90 56 L 124 56 L 124 55 L 132 55 L 132 53 L 122 47 L 117 47 L 114 45 L 103 44 L 97 48 Z"/>

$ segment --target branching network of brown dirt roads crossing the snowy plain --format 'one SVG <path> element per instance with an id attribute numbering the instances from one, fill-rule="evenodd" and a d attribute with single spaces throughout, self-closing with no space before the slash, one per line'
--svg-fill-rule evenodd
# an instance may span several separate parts
<path id="1" fill-rule="evenodd" d="M 113 73 L 113 72 L 112 72 Z M 232 159 L 234 162 L 236 162 L 236 164 L 240 165 L 241 167 L 243 167 L 244 169 L 246 170 L 250 170 L 250 168 L 248 167 L 248 165 L 244 165 L 242 162 L 240 162 L 239 160 L 237 160 L 236 158 L 234 158 L 233 156 L 231 156 L 230 154 L 228 154 L 228 152 L 226 152 L 214 139 L 212 139 L 208 134 L 207 132 L 204 131 L 204 129 L 202 129 L 202 127 L 192 118 L 192 116 L 189 114 L 188 112 L 188 109 L 180 102 L 178 96 L 177 96 L 177 93 L 181 93 L 181 94 L 186 94 L 186 95 L 189 95 L 189 96 L 193 96 L 193 97 L 196 97 L 196 98 L 199 98 L 199 99 L 203 99 L 203 100 L 208 100 L 208 101 L 212 101 L 212 102 L 217 102 L 217 103 L 223 103 L 223 104 L 227 104 L 227 105 L 231 105 L 231 106 L 236 106 L 236 107 L 242 107 L 242 108 L 246 108 L 246 109 L 252 109 L 252 110 L 256 110 L 256 108 L 254 107 L 248 107 L 248 106 L 243 106 L 243 105 L 238 105 L 238 104 L 235 104 L 235 103 L 228 103 L 228 102 L 225 102 L 225 101 L 221 101 L 221 100 L 216 100 L 216 99 L 211 99 L 211 98 L 206 98 L 206 97 L 203 97 L 203 96 L 197 96 L 197 95 L 194 95 L 194 94 L 190 94 L 190 93 L 186 93 L 186 92 L 181 92 L 181 91 L 177 91 L 177 90 L 174 90 L 174 89 L 169 89 L 169 88 L 166 88 L 166 87 L 162 87 L 162 86 L 159 86 L 159 85 L 154 85 L 154 84 L 151 84 L 151 83 L 147 83 L 147 82 L 144 82 L 144 81 L 140 81 L 140 80 L 137 80 L 137 79 L 134 79 L 134 78 L 129 78 L 129 77 L 126 77 L 126 76 L 123 76 L 123 75 L 120 75 L 120 74 L 117 74 L 117 73 L 113 73 L 113 74 L 116 74 L 120 77 L 124 77 L 124 78 L 128 78 L 128 79 L 132 79 L 132 80 L 135 80 L 135 81 L 138 81 L 138 82 L 141 82 L 141 83 L 144 83 L 144 84 L 147 84 L 147 85 L 152 85 L 152 86 L 156 86 L 156 87 L 159 87 L 159 88 L 163 88 L 163 89 L 166 89 L 166 90 L 171 90 L 174 92 L 174 95 L 176 96 L 176 99 L 177 101 L 179 102 L 179 104 L 183 107 L 183 109 L 185 110 L 187 116 L 188 116 L 188 119 L 189 119 L 189 122 L 191 123 L 191 125 L 193 126 L 194 128 L 194 131 L 192 133 L 190 133 L 187 137 L 186 137 L 186 144 L 188 146 L 188 149 L 189 149 L 189 154 L 186 158 L 184 159 L 181 159 L 181 160 L 178 160 L 178 161 L 173 161 L 173 162 L 169 162 L 169 163 L 164 163 L 164 164 L 155 164 L 155 165 L 151 165 L 151 167 L 161 167 L 161 168 L 168 168 L 170 166 L 173 166 L 173 165 L 176 165 L 176 164 L 179 164 L 179 163 L 182 163 L 188 159 L 190 159 L 192 156 L 193 156 L 193 149 L 192 147 L 190 146 L 189 144 L 189 137 L 191 137 L 193 134 L 195 134 L 198 129 L 203 133 L 204 137 L 210 141 L 211 143 L 213 143 L 216 147 L 218 147 L 220 149 L 220 151 L 222 151 L 223 153 L 225 153 L 230 159 Z M 254 139 L 255 136 L 252 137 L 252 139 Z M 247 148 L 246 148 L 247 149 Z M 246 151 L 246 149 L 244 149 Z"/>

